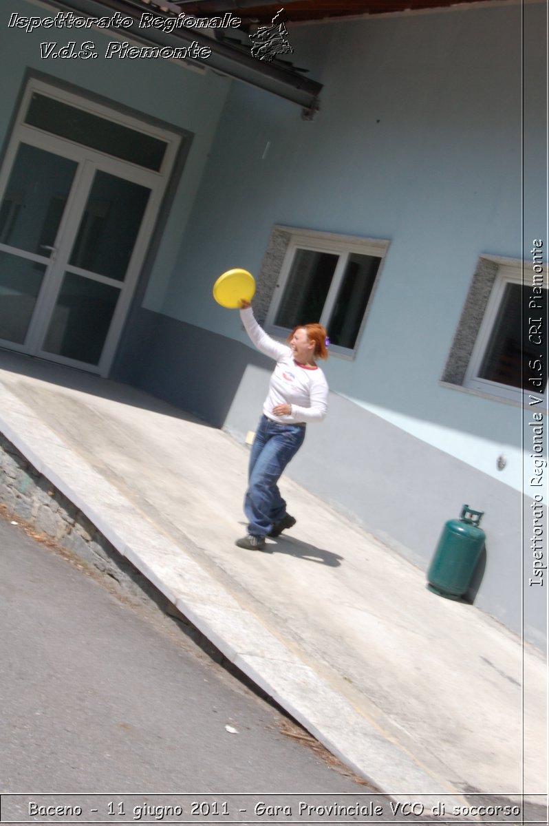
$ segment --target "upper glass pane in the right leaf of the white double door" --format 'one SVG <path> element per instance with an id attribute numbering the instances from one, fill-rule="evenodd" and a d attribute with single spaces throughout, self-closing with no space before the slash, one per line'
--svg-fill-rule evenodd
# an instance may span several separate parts
<path id="1" fill-rule="evenodd" d="M 123 281 L 150 190 L 97 172 L 69 263 Z"/>

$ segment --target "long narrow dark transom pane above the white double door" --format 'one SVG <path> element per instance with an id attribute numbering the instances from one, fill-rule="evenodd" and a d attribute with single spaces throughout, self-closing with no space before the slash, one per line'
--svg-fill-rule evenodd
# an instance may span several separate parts
<path id="1" fill-rule="evenodd" d="M 154 169 L 155 172 L 162 166 L 166 152 L 167 143 L 164 140 L 36 93 L 31 97 L 25 121 L 52 135 L 106 152 L 131 164 L 139 164 L 145 169 Z"/>

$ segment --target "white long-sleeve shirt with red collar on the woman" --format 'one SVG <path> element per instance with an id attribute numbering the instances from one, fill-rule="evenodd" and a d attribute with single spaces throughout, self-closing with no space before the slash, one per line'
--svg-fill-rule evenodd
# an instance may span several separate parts
<path id="1" fill-rule="evenodd" d="M 257 349 L 277 362 L 263 404 L 267 419 L 284 425 L 323 420 L 328 409 L 328 382 L 322 370 L 296 363 L 291 348 L 272 339 L 258 325 L 251 307 L 241 310 L 240 318 Z M 277 405 L 291 405 L 291 414 L 275 415 L 272 410 Z"/>

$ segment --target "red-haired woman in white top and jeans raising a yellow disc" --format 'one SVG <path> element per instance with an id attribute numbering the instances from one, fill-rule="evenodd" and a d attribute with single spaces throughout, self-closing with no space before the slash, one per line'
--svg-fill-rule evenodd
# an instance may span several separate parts
<path id="1" fill-rule="evenodd" d="M 328 339 L 324 327 L 307 324 L 291 333 L 288 347 L 262 330 L 248 301 L 240 302 L 240 317 L 253 344 L 277 362 L 249 460 L 244 499 L 248 535 L 235 543 L 239 548 L 261 550 L 266 536 L 278 536 L 296 525 L 286 512 L 277 482 L 303 444 L 305 425 L 326 415 L 328 383 L 315 358 L 328 358 Z"/>

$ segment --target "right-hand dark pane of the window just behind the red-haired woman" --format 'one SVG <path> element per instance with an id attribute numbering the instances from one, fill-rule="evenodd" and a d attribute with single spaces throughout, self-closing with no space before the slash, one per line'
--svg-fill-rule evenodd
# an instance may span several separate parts
<path id="1" fill-rule="evenodd" d="M 332 344 L 355 346 L 380 263 L 374 255 L 349 255 L 328 325 Z"/>

